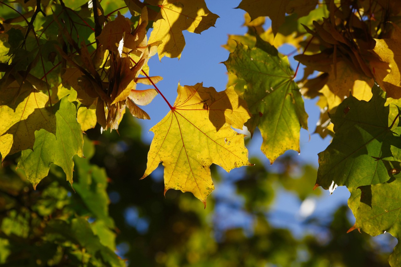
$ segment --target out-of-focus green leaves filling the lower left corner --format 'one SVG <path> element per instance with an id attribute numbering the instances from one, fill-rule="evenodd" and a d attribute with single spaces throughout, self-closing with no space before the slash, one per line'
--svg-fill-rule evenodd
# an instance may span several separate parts
<path id="1" fill-rule="evenodd" d="M 84 150 L 93 155 L 88 139 Z M 89 158 L 75 163 L 75 192 L 55 165 L 36 191 L 12 165 L 0 168 L 0 264 L 125 266 L 114 252 L 107 175 Z"/>

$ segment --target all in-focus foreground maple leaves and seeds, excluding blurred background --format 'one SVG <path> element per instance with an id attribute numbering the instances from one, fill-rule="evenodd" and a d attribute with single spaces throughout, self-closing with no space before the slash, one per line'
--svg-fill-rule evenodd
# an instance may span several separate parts
<path id="1" fill-rule="evenodd" d="M 74 165 L 84 161 L 73 161 L 73 156 L 87 156 L 83 132 L 96 125 L 100 132 L 117 130 L 127 108 L 134 117 L 149 119 L 138 105 L 148 105 L 160 94 L 170 111 L 151 129 L 155 137 L 142 178 L 162 162 L 164 193 L 170 188 L 192 192 L 206 206 L 214 189 L 212 163 L 227 172 L 253 165 L 244 135 L 233 128 L 245 125 L 253 135 L 258 127 L 261 150 L 272 164 L 287 150 L 300 152 L 300 130 L 308 129 L 302 96 L 318 98 L 321 112 L 315 132 L 333 141 L 319 154 L 315 188 L 320 185 L 332 193 L 337 186 L 347 186 L 356 217 L 350 230 L 370 235 L 387 231 L 401 238 L 399 2 L 243 0 L 238 8 L 248 12 L 248 32 L 230 36 L 225 46 L 230 52 L 224 62 L 228 88 L 217 92 L 202 84 L 178 85 L 172 105 L 156 86 L 162 78 L 149 74 L 149 58 L 156 53 L 159 59 L 180 58 L 182 31 L 201 33 L 214 26 L 218 16 L 203 0 L 124 4 L 0 2 L 3 163 L 16 157 L 16 168 L 34 188 L 55 168 L 51 164 L 61 167 L 72 184 L 73 171 L 80 168 Z M 122 9 L 131 18 L 123 16 Z M 271 19 L 268 30 L 263 28 L 265 16 Z M 288 57 L 277 51 L 284 43 L 300 53 L 294 57 L 299 62 L 295 72 Z M 304 77 L 296 82 L 301 64 Z M 137 90 L 138 83 L 154 88 Z M 96 172 L 88 168 L 88 173 Z M 71 218 L 54 228 L 88 229 L 85 240 L 96 243 L 85 224 Z M 103 247 L 95 245 L 88 253 L 99 250 Z M 399 265 L 399 250 L 397 246 L 390 257 L 393 266 Z"/>

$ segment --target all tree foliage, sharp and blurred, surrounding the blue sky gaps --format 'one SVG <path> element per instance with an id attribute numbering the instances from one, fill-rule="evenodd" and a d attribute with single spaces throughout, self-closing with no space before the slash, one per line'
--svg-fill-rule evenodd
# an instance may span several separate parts
<path id="1" fill-rule="evenodd" d="M 345 232 L 401 238 L 401 3 L 242 0 L 237 8 L 247 12 L 248 31 L 224 45 L 227 88 L 177 81 L 169 103 L 156 85 L 163 73 L 150 76 L 148 60 L 179 59 L 184 30 L 199 34 L 215 25 L 219 16 L 204 0 L 0 1 L 0 263 L 388 264 L 387 252 L 378 253 L 367 235 Z M 295 69 L 277 50 L 283 44 L 298 53 Z M 150 129 L 147 148 L 132 117 L 150 119 L 140 106 L 154 97 L 170 111 Z M 300 130 L 308 130 L 304 98 L 318 99 L 315 133 L 332 137 L 318 154 L 318 170 L 282 156 L 300 152 Z M 235 130 L 244 125 L 251 136 L 260 131 L 261 151 L 282 165 L 279 172 L 249 160 L 245 135 Z M 146 178 L 160 162 L 164 186 Z M 235 186 L 241 212 L 253 218 L 251 238 L 240 228 L 210 229 L 210 210 L 193 198 L 205 208 L 217 205 L 213 181 L 223 178 L 216 168 L 241 166 Z M 303 175 L 294 178 L 295 168 Z M 128 185 L 136 192 L 125 192 Z M 346 207 L 330 222 L 307 222 L 332 235 L 323 243 L 269 223 L 275 189 L 305 200 L 319 186 L 330 194 L 348 188 L 353 226 Z M 124 253 L 115 253 L 117 243 L 128 246 Z M 391 266 L 399 266 L 400 250 L 389 256 Z"/>

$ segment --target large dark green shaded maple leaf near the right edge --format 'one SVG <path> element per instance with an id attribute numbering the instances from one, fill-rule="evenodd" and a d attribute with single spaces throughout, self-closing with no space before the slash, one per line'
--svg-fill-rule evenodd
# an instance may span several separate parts
<path id="1" fill-rule="evenodd" d="M 389 180 L 383 160 L 391 156 L 390 143 L 401 128 L 393 131 L 388 126 L 389 106 L 385 106 L 385 92 L 377 85 L 372 87 L 369 102 L 352 95 L 331 116 L 334 124 L 332 143 L 319 155 L 316 183 L 323 188 L 334 184 L 357 188 Z"/>

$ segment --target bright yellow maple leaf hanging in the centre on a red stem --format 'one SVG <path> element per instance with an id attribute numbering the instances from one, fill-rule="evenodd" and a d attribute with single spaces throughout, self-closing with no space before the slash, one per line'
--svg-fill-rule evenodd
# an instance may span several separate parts
<path id="1" fill-rule="evenodd" d="M 171 111 L 150 129 L 155 135 L 142 178 L 163 162 L 164 193 L 170 188 L 192 192 L 206 207 L 206 198 L 214 189 L 212 163 L 227 172 L 252 165 L 244 135 L 231 129 L 242 129 L 250 115 L 233 87 L 216 92 L 202 83 L 178 85 L 177 93 Z"/>

